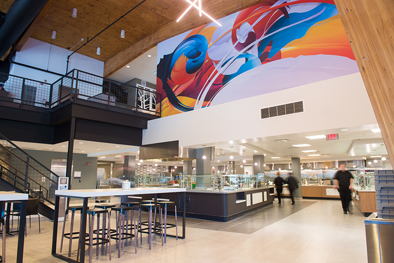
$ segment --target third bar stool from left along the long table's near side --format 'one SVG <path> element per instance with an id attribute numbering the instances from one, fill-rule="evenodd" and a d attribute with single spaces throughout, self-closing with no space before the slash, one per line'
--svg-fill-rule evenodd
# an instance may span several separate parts
<path id="1" fill-rule="evenodd" d="M 137 233 L 136 233 L 136 228 L 135 228 L 135 213 L 133 211 L 132 213 L 132 220 L 134 220 L 134 234 L 129 233 L 129 225 L 126 225 L 125 227 L 125 213 L 126 211 L 131 211 L 133 210 L 133 206 L 116 206 L 113 207 L 111 210 L 116 212 L 116 216 L 118 217 L 118 225 L 116 226 L 116 233 L 111 234 L 112 239 L 116 239 L 118 241 L 118 258 L 120 258 L 120 250 L 123 249 L 123 240 L 127 240 L 129 238 L 134 237 L 134 249 L 135 249 L 135 254 L 137 253 Z M 130 222 L 130 224 L 132 221 Z M 126 233 L 125 233 L 126 231 Z"/>

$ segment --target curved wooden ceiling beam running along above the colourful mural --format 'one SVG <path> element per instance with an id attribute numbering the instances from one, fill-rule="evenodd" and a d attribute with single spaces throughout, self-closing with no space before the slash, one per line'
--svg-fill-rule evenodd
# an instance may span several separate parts
<path id="1" fill-rule="evenodd" d="M 212 0 L 203 3 L 203 10 L 215 19 L 220 19 L 222 17 L 228 16 L 263 1 L 265 0 Z M 122 67 L 126 66 L 135 58 L 138 58 L 146 51 L 155 47 L 160 42 L 185 31 L 202 26 L 206 23 L 207 20 L 205 17 L 195 20 L 185 16 L 184 18 L 182 18 L 181 23 L 177 23 L 174 20 L 165 24 L 161 28 L 149 33 L 145 37 L 136 41 L 134 44 L 119 52 L 112 58 L 105 60 L 104 77 L 109 77 Z"/>

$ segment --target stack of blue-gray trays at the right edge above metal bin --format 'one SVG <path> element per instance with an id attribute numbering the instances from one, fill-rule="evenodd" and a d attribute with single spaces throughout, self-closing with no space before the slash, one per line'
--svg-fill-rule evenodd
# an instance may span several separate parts
<path id="1" fill-rule="evenodd" d="M 394 171 L 375 171 L 376 207 L 379 218 L 394 219 Z"/>

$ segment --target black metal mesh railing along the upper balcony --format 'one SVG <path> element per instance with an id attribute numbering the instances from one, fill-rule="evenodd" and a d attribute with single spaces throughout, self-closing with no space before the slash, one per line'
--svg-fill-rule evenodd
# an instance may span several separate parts
<path id="1" fill-rule="evenodd" d="M 0 99 L 45 107 L 48 110 L 67 100 L 87 100 L 109 107 L 161 116 L 161 94 L 73 69 L 53 84 L 0 73 Z M 2 92 L 2 93 L 1 93 Z"/>

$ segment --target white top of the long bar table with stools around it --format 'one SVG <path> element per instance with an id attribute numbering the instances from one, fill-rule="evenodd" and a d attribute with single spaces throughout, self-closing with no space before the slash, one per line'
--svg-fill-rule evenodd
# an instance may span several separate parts
<path id="1" fill-rule="evenodd" d="M 110 189 L 76 189 L 76 190 L 56 190 L 57 196 L 67 197 L 99 197 L 99 196 L 125 196 L 141 194 L 162 194 L 162 193 L 179 193 L 186 192 L 186 188 L 170 187 L 137 187 L 129 190 L 122 188 Z"/>

